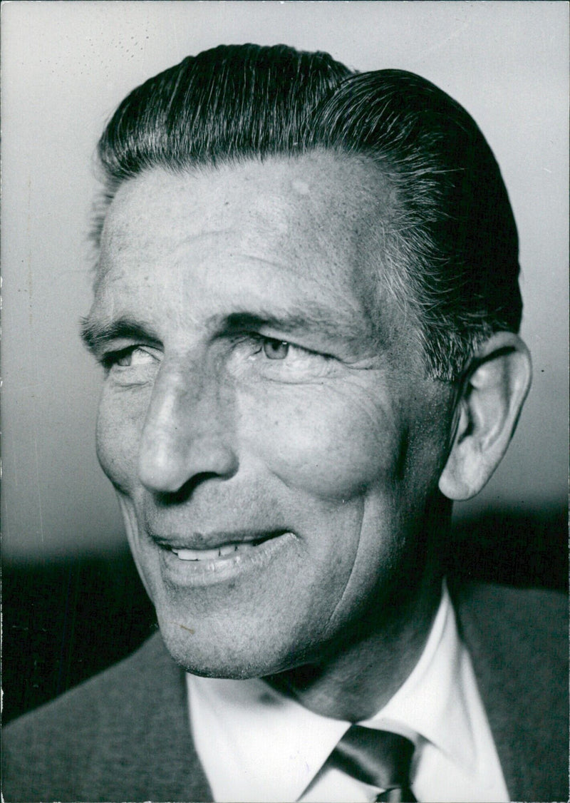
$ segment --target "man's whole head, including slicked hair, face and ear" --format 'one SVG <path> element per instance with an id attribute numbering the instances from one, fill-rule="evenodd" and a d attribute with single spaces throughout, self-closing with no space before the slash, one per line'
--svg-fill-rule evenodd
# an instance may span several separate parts
<path id="1" fill-rule="evenodd" d="M 530 381 L 481 132 L 417 75 L 247 45 L 136 89 L 99 153 L 98 450 L 167 646 L 267 675 L 401 630 Z"/>

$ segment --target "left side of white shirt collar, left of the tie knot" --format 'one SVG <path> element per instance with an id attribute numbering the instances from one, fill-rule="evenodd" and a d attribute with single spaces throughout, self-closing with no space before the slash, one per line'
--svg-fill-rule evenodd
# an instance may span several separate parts
<path id="1" fill-rule="evenodd" d="M 282 799 L 295 801 L 349 727 L 260 679 L 188 679 L 194 741 L 215 800 L 268 801 L 279 784 Z"/>

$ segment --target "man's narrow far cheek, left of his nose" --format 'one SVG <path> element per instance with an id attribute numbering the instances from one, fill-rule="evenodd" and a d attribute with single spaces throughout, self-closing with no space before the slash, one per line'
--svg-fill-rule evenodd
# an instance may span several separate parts
<path id="1" fill-rule="evenodd" d="M 104 386 L 96 425 L 97 457 L 100 465 L 120 491 L 127 492 L 136 480 L 140 434 L 147 394 L 116 392 Z"/>

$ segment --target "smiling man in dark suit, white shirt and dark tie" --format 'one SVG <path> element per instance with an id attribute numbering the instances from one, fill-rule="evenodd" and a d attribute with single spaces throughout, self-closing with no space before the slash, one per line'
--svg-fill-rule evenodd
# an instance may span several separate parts
<path id="1" fill-rule="evenodd" d="M 474 121 L 219 47 L 99 153 L 98 454 L 161 634 L 6 732 L 6 800 L 566 799 L 563 603 L 443 577 L 531 381 Z"/>

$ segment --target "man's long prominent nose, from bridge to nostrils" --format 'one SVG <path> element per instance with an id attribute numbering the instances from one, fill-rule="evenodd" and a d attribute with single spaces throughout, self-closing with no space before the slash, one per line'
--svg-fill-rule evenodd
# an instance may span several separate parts
<path id="1" fill-rule="evenodd" d="M 238 470 L 230 418 L 214 377 L 163 365 L 140 438 L 140 482 L 175 493 L 213 475 L 229 479 Z"/>

